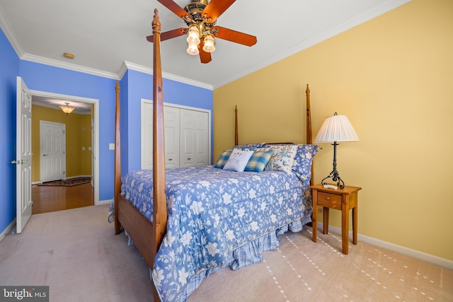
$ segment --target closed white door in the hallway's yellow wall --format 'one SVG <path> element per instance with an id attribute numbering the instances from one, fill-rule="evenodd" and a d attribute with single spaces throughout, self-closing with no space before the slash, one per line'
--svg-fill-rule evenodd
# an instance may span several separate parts
<path id="1" fill-rule="evenodd" d="M 65 179 L 66 125 L 40 121 L 40 181 Z"/>

